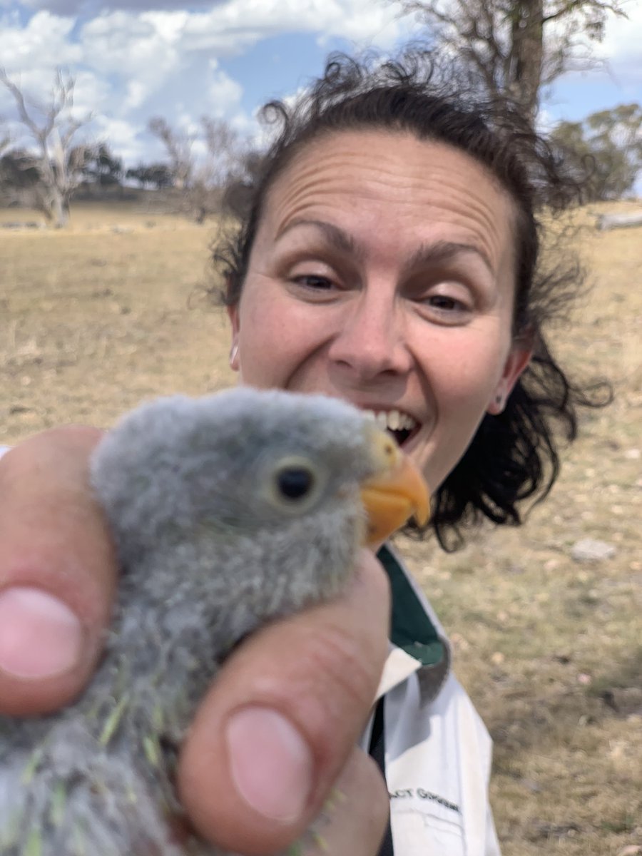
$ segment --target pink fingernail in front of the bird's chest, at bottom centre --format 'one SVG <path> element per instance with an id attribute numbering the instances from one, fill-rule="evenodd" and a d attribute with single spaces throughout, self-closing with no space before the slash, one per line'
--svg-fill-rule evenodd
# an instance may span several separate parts
<path id="1" fill-rule="evenodd" d="M 312 754 L 300 733 L 276 710 L 249 707 L 227 728 L 230 767 L 243 800 L 264 817 L 294 821 L 312 788 Z"/>

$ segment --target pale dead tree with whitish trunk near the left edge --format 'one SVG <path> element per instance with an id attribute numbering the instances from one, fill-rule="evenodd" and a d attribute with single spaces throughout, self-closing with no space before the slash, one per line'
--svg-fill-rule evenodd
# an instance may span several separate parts
<path id="1" fill-rule="evenodd" d="M 0 83 L 13 95 L 19 120 L 36 144 L 29 168 L 38 170 L 35 190 L 39 209 L 56 227 L 64 226 L 68 223 L 69 201 L 82 180 L 82 167 L 92 149 L 73 144 L 75 134 L 90 118 L 79 119 L 70 113 L 75 79 L 58 69 L 47 104 L 27 98 L 4 68 L 0 68 Z"/>

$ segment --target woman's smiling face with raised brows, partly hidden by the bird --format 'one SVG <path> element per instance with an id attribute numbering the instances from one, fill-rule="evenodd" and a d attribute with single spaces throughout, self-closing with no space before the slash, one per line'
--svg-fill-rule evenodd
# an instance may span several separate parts
<path id="1" fill-rule="evenodd" d="M 511 336 L 515 219 L 450 146 L 374 131 L 312 143 L 266 199 L 232 366 L 242 383 L 383 414 L 435 490 L 530 356 Z"/>

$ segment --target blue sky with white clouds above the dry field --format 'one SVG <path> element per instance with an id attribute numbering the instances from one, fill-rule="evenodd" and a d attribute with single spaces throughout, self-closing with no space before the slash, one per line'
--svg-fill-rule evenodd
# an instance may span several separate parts
<path id="1" fill-rule="evenodd" d="M 611 18 L 595 47 L 608 65 L 558 80 L 544 122 L 642 104 L 642 2 L 622 5 L 628 20 Z M 255 136 L 259 105 L 306 86 L 329 51 L 392 52 L 418 33 L 386 0 L 0 0 L 0 67 L 41 99 L 67 68 L 75 114 L 133 166 L 161 159 L 151 116 L 187 130 L 216 116 Z M 14 115 L 0 87 L 0 117 Z"/>

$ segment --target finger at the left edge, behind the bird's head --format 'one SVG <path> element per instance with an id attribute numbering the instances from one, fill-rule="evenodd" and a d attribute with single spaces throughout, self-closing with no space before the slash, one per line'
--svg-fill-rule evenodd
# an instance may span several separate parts
<path id="1" fill-rule="evenodd" d="M 88 482 L 100 431 L 45 431 L 0 460 L 0 712 L 45 713 L 84 687 L 116 562 Z"/>

